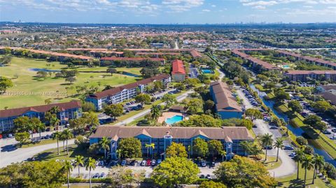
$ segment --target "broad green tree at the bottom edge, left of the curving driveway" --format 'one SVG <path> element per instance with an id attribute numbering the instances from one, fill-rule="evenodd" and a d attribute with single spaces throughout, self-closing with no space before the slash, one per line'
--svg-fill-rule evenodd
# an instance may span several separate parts
<path id="1" fill-rule="evenodd" d="M 275 187 L 276 181 L 259 162 L 236 155 L 214 171 L 216 178 L 228 187 Z M 248 177 L 248 178 L 246 178 Z"/>

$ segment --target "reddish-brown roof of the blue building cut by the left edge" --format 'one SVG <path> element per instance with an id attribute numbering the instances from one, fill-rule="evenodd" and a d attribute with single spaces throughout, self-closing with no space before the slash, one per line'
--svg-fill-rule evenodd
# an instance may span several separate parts
<path id="1" fill-rule="evenodd" d="M 0 117 L 13 117 L 19 116 L 29 111 L 38 112 L 38 113 L 45 113 L 50 108 L 58 106 L 60 110 L 68 110 L 71 108 L 80 108 L 80 101 L 70 101 L 67 103 L 53 103 L 48 105 L 41 105 L 41 106 L 30 106 L 30 107 L 23 107 L 23 108 L 12 108 L 7 110 L 0 110 Z"/>

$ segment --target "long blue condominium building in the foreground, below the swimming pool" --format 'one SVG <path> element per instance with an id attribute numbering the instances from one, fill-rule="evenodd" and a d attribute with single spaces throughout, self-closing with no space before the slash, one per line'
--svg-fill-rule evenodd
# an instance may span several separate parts
<path id="1" fill-rule="evenodd" d="M 99 143 L 103 137 L 111 139 L 111 158 L 116 159 L 118 143 L 123 138 L 137 138 L 141 141 L 142 154 L 147 153 L 146 144 L 154 144 L 149 151 L 156 157 L 165 157 L 165 151 L 169 145 L 182 143 L 186 148 L 190 146 L 190 154 L 193 154 L 193 140 L 202 138 L 206 141 L 220 140 L 223 150 L 226 151 L 226 159 L 232 159 L 235 154 L 246 155 L 241 148 L 241 141 L 252 141 L 253 137 L 243 126 L 223 127 L 179 127 L 179 126 L 99 126 L 90 136 L 90 144 Z"/>

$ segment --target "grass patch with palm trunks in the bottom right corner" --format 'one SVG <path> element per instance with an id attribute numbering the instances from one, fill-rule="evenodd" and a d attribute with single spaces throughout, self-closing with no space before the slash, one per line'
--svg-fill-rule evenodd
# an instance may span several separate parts
<path id="1" fill-rule="evenodd" d="M 276 180 L 279 182 L 279 187 L 291 187 L 291 188 L 302 187 L 304 181 L 304 168 L 300 167 L 299 171 L 300 171 L 299 180 L 296 180 L 296 173 L 285 178 L 276 178 Z M 307 171 L 306 187 L 308 186 L 311 188 L 330 187 L 330 185 L 325 184 L 325 182 L 323 182 L 323 180 L 321 180 L 320 178 L 316 178 L 314 185 L 312 185 L 311 184 L 312 178 L 313 178 L 313 170 Z M 334 182 L 335 181 L 333 181 L 332 183 Z"/>

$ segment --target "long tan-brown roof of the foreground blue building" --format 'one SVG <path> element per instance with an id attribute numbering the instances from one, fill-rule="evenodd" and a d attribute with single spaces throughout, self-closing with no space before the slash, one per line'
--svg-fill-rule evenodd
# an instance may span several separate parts
<path id="1" fill-rule="evenodd" d="M 243 126 L 223 126 L 218 128 L 181 126 L 173 126 L 172 128 L 169 126 L 98 126 L 90 138 L 131 138 L 141 134 L 151 136 L 151 138 L 163 138 L 166 135 L 173 136 L 173 138 L 193 138 L 202 135 L 210 139 L 218 140 L 227 137 L 232 140 L 253 140 L 251 134 L 246 127 Z"/>

